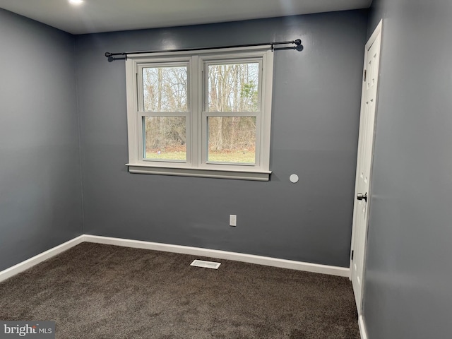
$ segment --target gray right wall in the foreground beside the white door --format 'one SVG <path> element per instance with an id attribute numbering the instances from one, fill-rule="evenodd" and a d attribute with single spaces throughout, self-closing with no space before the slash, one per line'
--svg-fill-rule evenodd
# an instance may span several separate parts
<path id="1" fill-rule="evenodd" d="M 364 279 L 369 339 L 451 338 L 452 2 L 374 0 L 383 21 Z"/>

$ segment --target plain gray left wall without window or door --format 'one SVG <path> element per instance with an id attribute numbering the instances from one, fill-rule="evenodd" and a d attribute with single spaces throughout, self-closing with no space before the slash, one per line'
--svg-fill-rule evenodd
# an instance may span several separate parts
<path id="1" fill-rule="evenodd" d="M 83 233 L 73 40 L 0 9 L 0 270 Z"/>

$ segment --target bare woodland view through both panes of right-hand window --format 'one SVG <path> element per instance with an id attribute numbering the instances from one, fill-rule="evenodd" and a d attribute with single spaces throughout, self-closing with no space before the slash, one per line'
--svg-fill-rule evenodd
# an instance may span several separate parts
<path id="1" fill-rule="evenodd" d="M 259 64 L 208 66 L 209 112 L 258 112 Z M 208 161 L 256 161 L 256 117 L 209 117 Z"/>

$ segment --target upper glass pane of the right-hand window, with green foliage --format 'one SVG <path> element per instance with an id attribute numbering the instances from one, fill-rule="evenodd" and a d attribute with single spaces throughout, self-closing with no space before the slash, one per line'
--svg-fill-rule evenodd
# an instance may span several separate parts
<path id="1" fill-rule="evenodd" d="M 208 66 L 210 112 L 258 111 L 259 64 Z"/>

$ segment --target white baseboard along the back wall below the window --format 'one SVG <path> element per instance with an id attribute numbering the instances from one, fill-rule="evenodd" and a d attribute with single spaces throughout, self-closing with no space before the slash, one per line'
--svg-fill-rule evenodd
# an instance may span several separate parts
<path id="1" fill-rule="evenodd" d="M 292 270 L 304 270 L 307 272 L 323 273 L 328 275 L 338 275 L 340 277 L 349 277 L 350 268 L 320 265 L 317 263 L 304 263 L 301 261 L 292 261 L 268 256 L 255 256 L 253 254 L 242 254 L 236 252 L 219 251 L 217 249 L 202 249 L 199 247 L 160 244 L 157 242 L 142 242 L 139 240 L 119 239 L 111 237 L 100 237 L 85 234 L 85 242 L 95 242 L 98 244 L 109 244 L 116 246 L 134 247 L 137 249 L 153 249 L 155 251 L 165 251 L 180 254 L 190 254 L 194 256 L 207 256 L 209 258 L 218 258 L 233 261 L 242 261 L 244 263 L 256 263 L 258 265 L 274 266 L 280 268 L 290 268 Z"/>

